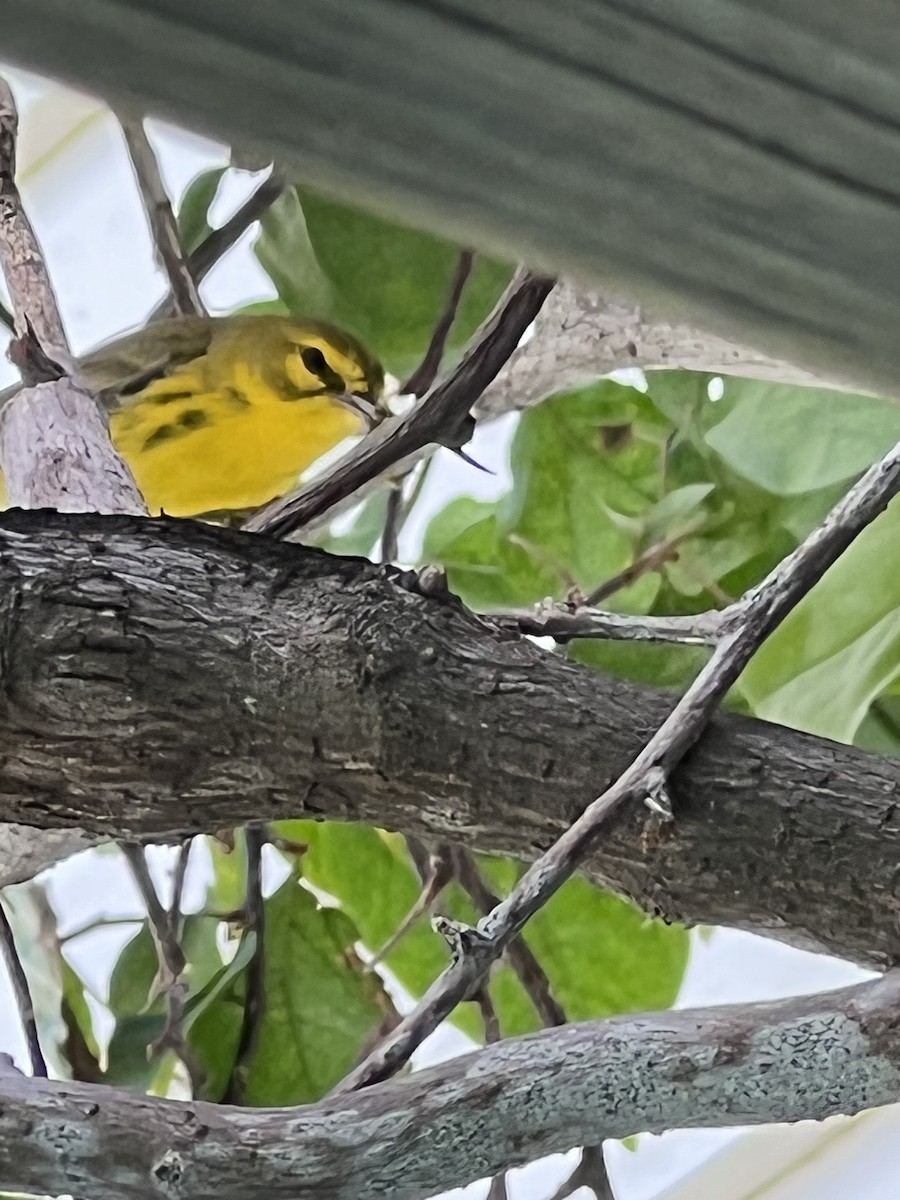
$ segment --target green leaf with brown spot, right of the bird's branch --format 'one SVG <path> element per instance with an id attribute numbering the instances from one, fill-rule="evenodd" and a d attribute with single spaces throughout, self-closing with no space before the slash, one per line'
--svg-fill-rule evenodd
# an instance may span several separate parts
<path id="1" fill-rule="evenodd" d="M 510 449 L 510 492 L 492 505 L 452 502 L 432 520 L 426 558 L 474 608 L 592 590 L 630 565 L 654 520 L 668 527 L 712 490 L 696 484 L 660 502 L 667 428 L 643 392 L 611 382 L 530 409 Z M 648 572 L 616 607 L 646 612 L 658 588 Z"/>

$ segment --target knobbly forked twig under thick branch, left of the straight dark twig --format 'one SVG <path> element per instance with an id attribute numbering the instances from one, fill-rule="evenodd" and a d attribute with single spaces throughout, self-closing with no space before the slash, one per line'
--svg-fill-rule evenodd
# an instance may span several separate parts
<path id="1" fill-rule="evenodd" d="M 181 914 L 174 908 L 168 911 L 163 907 L 140 842 L 122 841 L 119 847 L 146 908 L 148 924 L 156 947 L 160 989 L 166 997 L 166 1025 L 150 1046 L 150 1052 L 156 1056 L 164 1050 L 172 1050 L 184 1063 L 193 1094 L 197 1096 L 203 1086 L 203 1072 L 185 1038 L 187 983 L 184 979 L 186 964 L 180 942 Z"/>

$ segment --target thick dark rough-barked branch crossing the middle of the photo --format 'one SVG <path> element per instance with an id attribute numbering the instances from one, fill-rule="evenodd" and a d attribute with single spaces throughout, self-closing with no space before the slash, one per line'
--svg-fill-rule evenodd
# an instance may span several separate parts
<path id="1" fill-rule="evenodd" d="M 671 697 L 500 637 L 412 576 L 187 522 L 0 517 L 0 820 L 109 838 L 311 815 L 522 858 Z M 725 716 L 670 840 L 590 870 L 668 918 L 900 959 L 900 762 Z"/>

